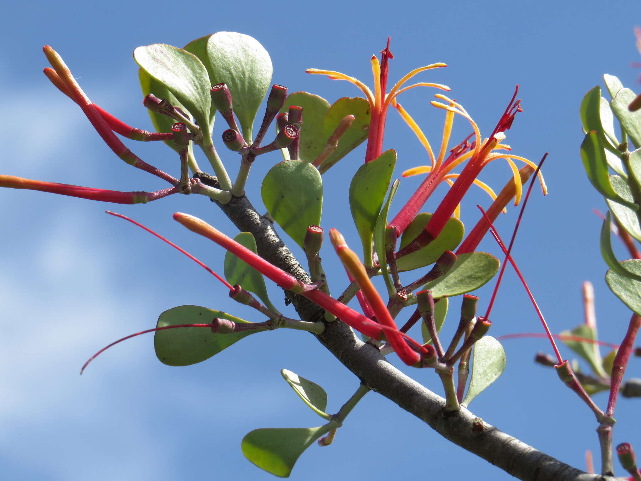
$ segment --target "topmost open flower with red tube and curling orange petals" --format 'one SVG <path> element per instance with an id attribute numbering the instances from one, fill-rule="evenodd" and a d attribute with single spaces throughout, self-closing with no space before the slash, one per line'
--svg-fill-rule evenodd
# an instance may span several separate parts
<path id="1" fill-rule="evenodd" d="M 413 71 L 406 74 L 401 80 L 399 80 L 392 90 L 389 93 L 386 92 L 387 89 L 387 74 L 388 74 L 388 62 L 390 58 L 394 58 L 392 52 L 390 52 L 390 38 L 387 38 L 387 46 L 385 49 L 381 50 L 381 61 L 379 62 L 376 55 L 372 55 L 372 73 L 374 74 L 374 93 L 360 80 L 356 80 L 353 77 L 347 76 L 340 72 L 329 71 L 329 70 L 320 70 L 320 69 L 307 69 L 308 74 L 322 74 L 327 75 L 332 80 L 347 80 L 356 87 L 358 87 L 361 92 L 365 95 L 365 98 L 369 102 L 370 110 L 372 112 L 372 118 L 369 124 L 369 131 L 367 135 L 367 151 L 365 154 L 365 164 L 377 158 L 383 152 L 383 137 L 385 135 L 385 119 L 387 118 L 387 111 L 394 102 L 394 99 L 405 92 L 406 90 L 413 89 L 414 87 L 436 87 L 441 90 L 449 90 L 449 87 L 446 85 L 441 85 L 440 83 L 429 83 L 429 82 L 419 82 L 408 87 L 403 87 L 403 84 L 410 80 L 416 74 L 429 70 L 436 69 L 438 67 L 446 67 L 445 63 L 432 63 L 431 65 L 426 65 L 425 67 L 419 67 Z M 401 88 L 403 87 L 403 88 Z"/>

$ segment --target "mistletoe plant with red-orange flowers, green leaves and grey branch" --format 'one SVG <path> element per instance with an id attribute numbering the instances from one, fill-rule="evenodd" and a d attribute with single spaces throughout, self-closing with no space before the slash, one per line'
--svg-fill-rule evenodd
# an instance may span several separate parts
<path id="1" fill-rule="evenodd" d="M 479 299 L 469 294 L 490 281 L 501 263 L 476 248 L 491 232 L 506 260 L 516 268 L 510 257 L 514 236 L 506 247 L 492 223 L 512 199 L 515 205 L 520 203 L 522 185 L 533 173 L 536 175 L 532 176 L 532 181 L 538 177 L 545 193 L 545 184 L 538 171 L 540 165 L 537 167 L 528 159 L 513 155 L 510 146 L 504 143 L 506 131 L 521 111 L 518 88 L 487 137 L 481 135 L 476 122 L 460 103 L 437 93 L 431 105 L 444 112 L 444 128 L 440 148 L 433 149 L 417 122 L 399 103 L 399 96 L 415 87 L 449 91 L 449 87 L 433 82 L 407 85 L 417 74 L 443 68 L 444 63 L 419 67 L 388 89 L 389 61 L 393 58 L 388 40 L 380 60 L 377 56 L 370 60 L 373 90 L 340 72 L 308 69 L 310 74 L 349 81 L 363 94 L 363 97 L 343 97 L 330 104 L 308 92 L 288 94 L 282 85 L 270 87 L 272 65 L 267 51 L 247 35 L 219 32 L 198 38 L 183 49 L 165 44 L 135 49 L 133 56 L 140 66 L 144 106 L 149 110 L 155 128 L 155 131 L 146 131 L 129 126 L 92 103 L 58 53 L 49 46 L 44 47 L 44 53 L 53 67 L 44 70 L 46 76 L 81 108 L 113 152 L 133 167 L 167 181 L 169 187 L 151 192 L 120 192 L 3 175 L 0 175 L 0 186 L 122 204 L 147 203 L 174 194 L 200 194 L 215 202 L 241 231 L 231 238 L 192 215 L 174 214 L 174 219 L 189 230 L 226 249 L 224 277 L 185 251 L 183 253 L 216 276 L 233 300 L 253 307 L 256 317 L 252 321 L 240 319 L 216 310 L 215 306 L 171 308 L 160 314 L 155 328 L 145 331 L 155 332 L 158 359 L 170 366 L 187 366 L 208 360 L 248 335 L 289 328 L 313 333 L 358 376 L 360 385 L 354 395 L 337 413 L 330 414 L 327 412 L 327 394 L 322 387 L 283 369 L 281 374 L 287 383 L 323 419 L 323 424 L 312 428 L 262 428 L 249 432 L 241 447 L 247 459 L 256 466 L 276 476 L 288 477 L 306 448 L 315 441 L 320 446 L 331 444 L 358 401 L 367 392 L 376 391 L 415 414 L 447 439 L 521 479 L 594 478 L 509 437 L 466 409 L 501 375 L 506 362 L 500 342 L 487 335 L 492 325 L 489 316 L 499 282 L 494 295 L 487 301 L 485 316 L 477 316 Z M 590 91 L 592 93 L 588 94 L 582 107 L 588 131 L 582 155 L 590 180 L 608 199 L 621 235 L 628 232 L 641 240 L 637 218 L 641 190 L 635 174 L 635 169 L 641 169 L 635 165 L 635 162 L 641 162 L 641 153 L 629 153 L 625 148 L 626 136 L 637 145 L 641 142 L 641 119 L 636 119 L 627 110 L 625 114 L 616 110 L 615 105 L 627 108 L 626 103 L 631 99 L 629 94 L 622 94 L 625 89 L 620 90 L 618 81 L 612 79 L 606 83 L 609 82 L 608 88 L 615 97 L 612 108 L 622 124 L 623 139 L 621 142 L 616 140 L 611 128 L 612 117 L 610 124 L 604 117 L 603 100 L 598 90 Z M 254 121 L 265 97 L 265 112 L 254 133 Z M 399 189 L 399 180 L 392 182 L 397 155 L 393 149 L 383 149 L 385 122 L 390 110 L 401 115 L 426 149 L 430 161 L 429 165 L 404 171 L 403 176 L 426 175 L 416 192 L 393 216 L 390 210 Z M 222 139 L 215 142 L 212 127 L 217 114 L 229 128 L 222 133 Z M 457 115 L 469 123 L 471 133 L 451 144 Z M 274 121 L 276 134 L 271 142 L 263 142 L 266 136 L 271 139 L 269 131 Z M 176 176 L 147 164 L 129 150 L 119 136 L 142 142 L 165 142 L 178 154 Z M 342 164 L 345 172 L 352 176 L 349 205 L 362 244 L 357 249 L 359 253 L 347 246 L 337 230 L 329 230 L 331 244 L 347 273 L 348 281 L 342 282 L 340 273 L 331 273 L 331 279 L 328 278 L 319 257 L 324 241 L 324 228 L 321 227 L 323 174 L 365 140 L 364 162 L 357 169 L 350 166 L 354 162 Z M 226 160 L 222 160 L 217 150 L 222 145 L 236 154 L 225 155 Z M 199 167 L 198 150 L 209 162 L 210 173 Z M 274 151 L 280 151 L 285 160 L 277 162 L 276 156 L 272 157 L 274 165 L 265 175 L 261 189 L 268 212 L 260 215 L 246 196 L 246 181 L 256 158 Z M 236 155 L 239 157 L 235 158 Z M 512 178 L 499 194 L 478 178 L 483 167 L 497 159 L 506 160 L 512 170 Z M 515 160 L 525 165 L 519 169 Z M 232 180 L 229 171 L 236 170 L 233 166 L 237 164 L 235 180 Z M 608 180 L 608 165 L 619 176 L 611 176 Z M 460 166 L 463 167 L 460 172 L 454 172 Z M 641 176 L 641 170 L 638 175 Z M 450 188 L 444 198 L 435 201 L 432 194 L 443 183 Z M 472 184 L 488 192 L 493 201 L 487 210 L 481 209 L 478 223 L 466 234 L 458 217 L 460 204 Z M 434 205 L 433 212 L 421 212 L 428 200 Z M 120 214 L 114 215 L 126 219 Z M 294 258 L 278 231 L 287 234 L 303 249 L 304 260 L 299 262 Z M 641 314 L 641 289 L 637 287 L 641 285 L 641 266 L 637 260 L 616 262 L 609 231 L 610 214 L 606 217 L 602 236 L 604 257 L 611 267 L 608 282 L 629 307 Z M 638 253 L 635 258 L 641 258 L 637 256 Z M 499 280 L 505 267 L 506 262 L 501 267 Z M 383 296 L 372 283 L 374 276 L 382 276 L 385 282 L 387 292 Z M 267 295 L 265 277 L 285 291 L 299 318 L 286 317 L 274 306 Z M 330 284 L 333 292 L 337 292 L 340 285 L 342 293 L 332 296 Z M 354 296 L 360 311 L 347 306 Z M 536 307 L 536 303 L 534 305 Z M 458 328 L 452 339 L 446 340 L 441 339 L 439 333 L 450 306 L 455 306 L 454 314 L 449 315 L 455 320 L 450 322 L 457 322 Z M 612 462 L 608 461 L 611 459 L 608 453 L 612 451 L 614 402 L 641 317 L 633 316 L 619 351 L 604 360 L 595 347 L 598 342 L 595 325 L 587 323 L 572 332 L 555 336 L 540 317 L 545 335 L 556 353 L 556 359 L 551 361 L 543 357 L 597 414 L 604 450 L 603 473 L 611 474 Z M 260 321 L 265 318 L 267 320 Z M 403 325 L 399 328 L 400 319 L 403 319 Z M 412 337 L 408 332 L 418 321 L 422 321 L 421 329 L 415 339 L 416 336 Z M 363 341 L 354 331 L 362 335 Z M 132 336 L 124 339 L 129 337 Z M 563 339 L 587 359 L 597 376 L 583 375 L 563 360 L 554 337 Z M 442 381 L 445 398 L 395 369 L 384 357 L 393 357 L 390 356 L 392 353 L 408 366 L 433 369 Z M 608 379 L 610 372 L 611 379 Z M 608 410 L 601 412 L 590 400 L 588 392 L 606 387 L 610 389 L 610 403 Z M 626 446 L 617 451 L 622 453 L 629 467 L 633 465 L 633 455 L 631 448 L 626 451 Z M 636 473 L 636 468 L 630 468 L 630 471 Z"/>

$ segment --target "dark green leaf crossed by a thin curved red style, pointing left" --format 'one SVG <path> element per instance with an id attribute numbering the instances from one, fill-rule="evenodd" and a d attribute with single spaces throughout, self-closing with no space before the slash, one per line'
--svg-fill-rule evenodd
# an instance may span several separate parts
<path id="1" fill-rule="evenodd" d="M 235 323 L 248 324 L 221 310 L 200 306 L 178 306 L 165 310 L 158 317 L 157 327 L 177 324 L 208 324 L 214 317 L 229 319 Z M 214 334 L 206 327 L 182 327 L 156 331 L 154 348 L 156 357 L 169 366 L 189 366 L 209 359 L 213 355 L 240 341 L 243 337 L 265 329 L 247 330 L 231 334 Z"/>

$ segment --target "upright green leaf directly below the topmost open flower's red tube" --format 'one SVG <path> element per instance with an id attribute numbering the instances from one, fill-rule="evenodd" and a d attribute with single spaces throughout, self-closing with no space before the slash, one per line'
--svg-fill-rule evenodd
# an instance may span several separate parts
<path id="1" fill-rule="evenodd" d="M 372 267 L 372 236 L 381 212 L 385 192 L 390 186 L 396 165 L 396 151 L 387 150 L 358 167 L 349 185 L 349 208 L 363 244 L 365 267 Z"/>

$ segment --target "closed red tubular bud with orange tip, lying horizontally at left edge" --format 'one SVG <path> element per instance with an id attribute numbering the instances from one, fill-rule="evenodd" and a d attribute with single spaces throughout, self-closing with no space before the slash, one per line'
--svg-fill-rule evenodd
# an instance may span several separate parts
<path id="1" fill-rule="evenodd" d="M 119 190 L 94 189 L 93 187 L 82 187 L 80 185 L 24 179 L 11 175 L 0 175 L 0 187 L 40 190 L 40 192 L 51 192 L 52 194 L 113 202 L 115 204 L 144 204 L 178 192 L 176 187 L 156 190 L 156 192 L 120 192 Z"/>

